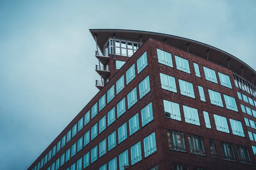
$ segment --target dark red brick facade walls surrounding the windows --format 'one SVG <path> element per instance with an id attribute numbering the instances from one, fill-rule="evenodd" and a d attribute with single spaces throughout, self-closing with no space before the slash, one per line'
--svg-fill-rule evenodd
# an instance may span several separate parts
<path id="1" fill-rule="evenodd" d="M 172 54 L 173 68 L 160 64 L 158 62 L 157 48 Z M 147 52 L 148 66 L 146 66 L 143 69 L 143 71 L 140 72 L 140 74 L 137 74 L 136 61 L 145 51 Z M 175 55 L 189 60 L 189 67 L 190 67 L 191 74 L 187 74 L 185 72 L 182 72 L 176 69 Z M 29 167 L 28 170 L 31 170 L 33 167 L 35 167 L 36 164 L 38 164 L 39 161 L 41 161 L 41 159 L 49 152 L 49 150 L 51 150 L 52 147 L 55 146 L 55 144 L 57 144 L 57 142 L 61 140 L 61 138 L 65 134 L 67 134 L 67 132 L 70 129 L 72 129 L 72 127 L 79 121 L 79 119 L 81 119 L 84 116 L 84 114 L 87 113 L 87 111 L 89 111 L 91 107 L 96 102 L 99 101 L 100 97 L 102 97 L 104 94 L 106 94 L 107 96 L 108 89 L 112 85 L 114 85 L 122 75 L 124 75 L 125 82 L 126 82 L 125 71 L 127 71 L 128 68 L 130 68 L 131 65 L 133 65 L 134 63 L 135 63 L 135 73 L 136 73 L 135 79 L 133 79 L 128 85 L 126 85 L 125 83 L 125 88 L 118 95 L 115 94 L 114 99 L 111 100 L 110 103 L 107 104 L 106 102 L 105 108 L 103 108 L 100 112 L 98 112 L 98 114 L 93 119 L 91 119 L 90 122 L 86 126 L 84 126 L 82 130 L 80 130 L 79 133 L 76 134 L 76 136 L 74 136 L 71 139 L 70 142 L 68 142 L 63 148 L 61 148 L 61 150 L 58 153 L 56 153 L 56 155 L 53 156 L 52 159 L 50 159 L 42 169 L 44 170 L 47 169 L 54 161 L 56 161 L 56 159 L 58 159 L 64 152 L 66 152 L 68 148 L 70 148 L 75 142 L 77 142 L 77 140 L 81 138 L 81 136 L 84 136 L 84 133 L 86 133 L 87 130 L 89 130 L 96 122 L 99 122 L 99 119 L 101 119 L 104 115 L 106 115 L 108 111 L 110 111 L 113 107 L 116 107 L 116 104 L 120 100 L 122 100 L 124 97 L 126 98 L 125 100 L 126 112 L 122 116 L 120 116 L 118 119 L 116 119 L 116 121 L 113 122 L 113 124 L 111 124 L 109 127 L 106 127 L 106 129 L 102 133 L 98 134 L 98 136 L 95 139 L 90 141 L 90 143 L 87 144 L 87 146 L 83 147 L 83 149 L 80 150 L 78 153 L 76 153 L 75 156 L 70 158 L 70 160 L 67 161 L 63 166 L 61 166 L 59 170 L 66 170 L 67 167 L 70 167 L 74 162 L 76 162 L 78 159 L 83 157 L 85 153 L 87 153 L 93 147 L 99 144 L 99 142 L 101 142 L 105 138 L 108 138 L 108 135 L 110 135 L 114 130 L 116 130 L 117 132 L 117 128 L 120 127 L 125 122 L 127 122 L 127 129 L 129 129 L 128 120 L 132 116 L 134 116 L 136 113 L 139 113 L 140 130 L 138 130 L 136 133 L 134 133 L 131 136 L 128 135 L 128 138 L 125 139 L 124 142 L 120 144 L 116 144 L 116 147 L 114 147 L 112 150 L 110 151 L 107 150 L 107 154 L 105 154 L 101 158 L 98 158 L 97 161 L 90 164 L 90 166 L 85 168 L 85 170 L 99 169 L 99 167 L 101 167 L 105 163 L 108 163 L 108 161 L 110 161 L 114 157 L 117 158 L 117 167 L 119 167 L 118 156 L 120 153 L 122 153 L 127 149 L 128 149 L 128 157 L 129 157 L 129 168 L 128 168 L 129 170 L 148 170 L 156 165 L 159 166 L 160 170 L 170 170 L 173 167 L 172 163 L 189 165 L 190 170 L 192 170 L 193 166 L 204 167 L 209 170 L 254 170 L 256 169 L 256 157 L 253 155 L 253 150 L 251 147 L 253 143 L 255 143 L 253 145 L 256 145 L 256 142 L 250 141 L 247 133 L 247 129 L 254 133 L 256 133 L 256 130 L 252 129 L 251 127 L 247 127 L 245 125 L 244 117 L 248 117 L 248 119 L 251 119 L 254 121 L 256 121 L 256 118 L 253 118 L 252 116 L 242 113 L 240 103 L 242 103 L 243 105 L 247 105 L 250 108 L 252 106 L 238 99 L 238 96 L 236 93 L 237 91 L 240 91 L 240 90 L 239 88 L 235 87 L 231 70 L 224 68 L 220 65 L 217 65 L 213 62 L 209 62 L 206 59 L 200 58 L 193 54 L 189 54 L 186 51 L 182 51 L 178 48 L 174 48 L 158 40 L 154 40 L 152 38 L 148 39 L 141 46 L 141 48 L 136 53 L 134 53 L 134 55 L 131 58 L 116 56 L 116 59 L 122 60 L 122 61 L 127 61 L 127 60 L 128 61 L 125 63 L 125 65 L 123 65 L 123 67 L 119 71 L 117 71 L 115 60 L 113 59 L 113 55 L 110 55 L 109 68 L 111 72 L 110 73 L 111 79 L 109 80 L 109 82 L 105 85 L 105 87 L 101 91 L 99 91 L 98 94 L 96 94 L 96 96 L 93 97 L 93 99 L 84 107 L 84 109 L 76 116 L 76 118 L 73 119 L 73 121 L 61 132 L 61 134 L 54 140 L 54 142 L 52 142 L 52 144 L 50 144 L 49 147 L 47 147 L 47 149 L 41 154 L 41 156 L 38 157 L 38 159 Z M 193 62 L 199 65 L 201 78 L 195 76 Z M 218 79 L 218 84 L 207 81 L 204 77 L 203 66 L 215 70 L 216 73 L 220 72 L 228 75 L 230 77 L 233 89 L 221 86 L 219 79 Z M 161 88 L 160 73 L 175 77 L 176 85 L 178 89 L 177 93 L 166 91 Z M 139 99 L 138 84 L 143 79 L 145 79 L 145 77 L 147 77 L 148 75 L 150 79 L 150 92 L 146 94 L 142 99 Z M 195 91 L 195 99 L 187 96 L 183 96 L 180 94 L 178 79 L 182 79 L 187 82 L 191 82 L 193 84 L 194 91 Z M 200 100 L 199 91 L 197 87 L 198 85 L 204 88 L 206 102 L 202 102 Z M 133 105 L 130 109 L 128 109 L 127 94 L 135 87 L 137 87 L 138 102 L 135 105 Z M 224 104 L 224 108 L 218 107 L 216 105 L 212 105 L 209 99 L 209 94 L 207 92 L 207 89 L 211 89 L 221 94 L 226 94 L 228 96 L 233 96 L 234 98 L 236 98 L 236 103 L 239 108 L 239 112 L 228 110 L 225 107 L 223 95 L 222 95 L 222 101 Z M 115 91 L 116 91 L 116 86 L 115 86 Z M 244 91 L 242 93 L 246 94 L 247 96 L 250 96 Z M 163 99 L 180 104 L 180 113 L 181 113 L 182 121 L 176 121 L 176 120 L 168 119 L 165 117 Z M 152 102 L 154 119 L 153 121 L 151 121 L 150 123 L 142 127 L 140 110 L 144 108 L 146 105 L 148 105 L 148 103 L 150 102 Z M 196 126 L 196 125 L 192 125 L 185 122 L 182 105 L 186 105 L 186 106 L 198 109 L 201 126 Z M 209 119 L 212 126 L 211 129 L 208 129 L 205 126 L 203 111 L 207 111 L 209 113 Z M 218 115 L 225 116 L 227 118 L 235 119 L 242 122 L 245 137 L 233 135 L 229 121 L 228 121 L 228 125 L 230 128 L 230 133 L 217 131 L 213 114 L 218 114 Z M 179 131 L 184 133 L 186 153 L 169 150 L 168 138 L 166 133 L 167 130 L 174 130 L 174 131 Z M 153 132 L 155 132 L 155 135 L 156 135 L 157 152 L 152 154 L 151 156 L 144 158 L 143 138 L 145 138 L 146 136 L 148 136 Z M 204 139 L 204 148 L 206 151 L 206 156 L 198 156 L 198 155 L 191 154 L 189 152 L 188 134 L 200 136 Z M 216 147 L 218 158 L 212 158 L 208 139 L 215 140 L 215 147 Z M 140 162 L 137 162 L 134 165 L 131 165 L 130 147 L 139 141 L 141 142 L 141 148 L 142 148 L 142 160 Z M 222 159 L 221 147 L 219 142 L 227 142 L 227 143 L 233 144 L 235 154 L 236 154 L 236 160 L 237 160 L 236 162 L 225 161 Z M 236 151 L 236 145 L 249 148 L 250 157 L 253 163 L 252 165 L 239 163 L 239 159 Z M 108 140 L 107 140 L 107 146 L 108 146 Z"/>

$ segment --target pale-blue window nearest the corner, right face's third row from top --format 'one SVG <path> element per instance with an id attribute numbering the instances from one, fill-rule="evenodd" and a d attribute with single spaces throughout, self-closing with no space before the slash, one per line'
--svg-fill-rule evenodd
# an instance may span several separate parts
<path id="1" fill-rule="evenodd" d="M 180 106 L 175 102 L 163 100 L 165 116 L 170 119 L 181 121 Z"/>

